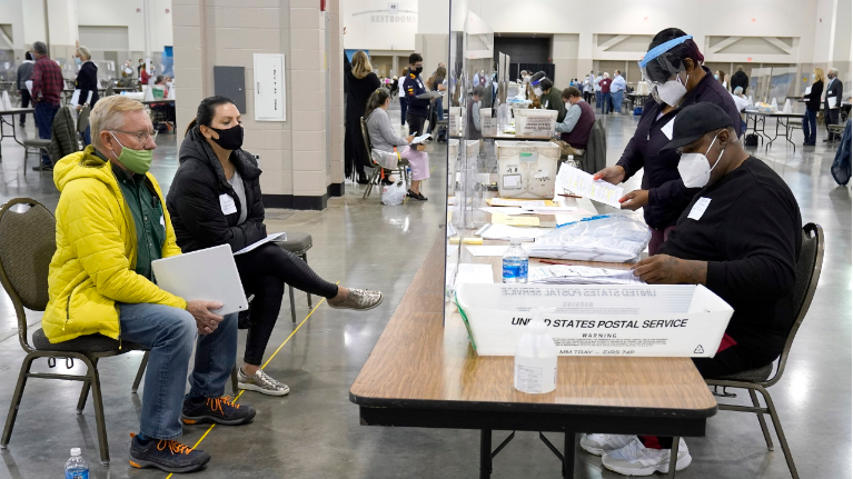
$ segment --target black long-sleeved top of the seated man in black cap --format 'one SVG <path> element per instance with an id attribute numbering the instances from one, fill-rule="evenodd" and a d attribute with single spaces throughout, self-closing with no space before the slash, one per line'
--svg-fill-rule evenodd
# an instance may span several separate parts
<path id="1" fill-rule="evenodd" d="M 701 198 L 711 200 L 707 209 L 698 220 L 688 218 Z M 761 358 L 754 365 L 761 367 L 782 352 L 794 320 L 802 241 L 794 194 L 775 171 L 750 157 L 696 194 L 659 252 L 708 262 L 705 286 L 734 308 L 726 332 Z"/>

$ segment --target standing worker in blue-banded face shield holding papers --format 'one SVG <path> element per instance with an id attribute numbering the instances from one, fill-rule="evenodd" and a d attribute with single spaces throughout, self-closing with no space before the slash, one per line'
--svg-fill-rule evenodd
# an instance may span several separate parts
<path id="1" fill-rule="evenodd" d="M 596 180 L 617 184 L 643 170 L 641 189 L 625 194 L 619 202 L 623 209 L 643 208 L 652 228 L 649 255 L 657 252 L 697 191 L 685 186 L 678 176 L 678 154 L 661 152 L 672 140 L 673 123 L 681 109 L 711 102 L 728 113 L 733 124 L 740 124 L 732 96 L 702 66 L 704 60 L 693 38 L 684 31 L 668 28 L 655 36 L 639 62 L 652 94 L 643 107 L 637 129 L 616 164 L 595 173 Z"/>

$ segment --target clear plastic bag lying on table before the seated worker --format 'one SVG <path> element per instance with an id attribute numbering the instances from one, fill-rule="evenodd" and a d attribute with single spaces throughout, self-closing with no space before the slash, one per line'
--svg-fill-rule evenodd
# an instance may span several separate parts
<path id="1" fill-rule="evenodd" d="M 651 239 L 652 231 L 644 222 L 609 214 L 557 228 L 525 249 L 535 258 L 635 262 Z"/>

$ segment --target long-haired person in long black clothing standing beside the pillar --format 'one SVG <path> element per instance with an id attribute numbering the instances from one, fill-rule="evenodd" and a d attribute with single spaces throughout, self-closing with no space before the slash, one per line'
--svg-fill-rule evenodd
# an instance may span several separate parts
<path id="1" fill-rule="evenodd" d="M 347 112 L 344 133 L 344 169 L 347 178 L 358 173 L 358 182 L 367 184 L 365 167 L 370 166 L 370 152 L 365 149 L 361 137 L 361 117 L 365 116 L 367 99 L 381 87 L 379 78 L 373 72 L 367 53 L 358 50 L 349 63 L 344 53 L 344 82 L 347 86 Z"/>

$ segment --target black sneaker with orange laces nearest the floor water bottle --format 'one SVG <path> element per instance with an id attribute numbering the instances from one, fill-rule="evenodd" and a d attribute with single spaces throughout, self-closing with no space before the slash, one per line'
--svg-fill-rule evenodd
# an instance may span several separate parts
<path id="1" fill-rule="evenodd" d="M 149 439 L 146 443 L 133 436 L 130 440 L 130 466 L 157 468 L 166 472 L 191 472 L 210 462 L 210 455 L 191 449 L 176 440 Z"/>

